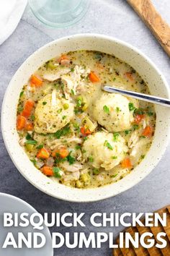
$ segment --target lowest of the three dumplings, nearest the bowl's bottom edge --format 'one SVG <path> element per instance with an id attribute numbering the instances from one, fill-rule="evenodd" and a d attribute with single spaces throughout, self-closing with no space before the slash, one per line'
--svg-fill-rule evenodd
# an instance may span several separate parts
<path id="1" fill-rule="evenodd" d="M 110 170 L 125 158 L 128 146 L 119 133 L 113 135 L 107 132 L 96 132 L 84 141 L 82 150 L 85 160 L 89 160 L 91 166 Z"/>

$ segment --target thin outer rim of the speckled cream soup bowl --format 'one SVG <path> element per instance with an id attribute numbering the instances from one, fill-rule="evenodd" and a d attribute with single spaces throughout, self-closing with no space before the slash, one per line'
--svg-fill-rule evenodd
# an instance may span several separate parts
<path id="1" fill-rule="evenodd" d="M 145 59 L 148 64 L 153 67 L 153 69 L 155 69 L 155 71 L 157 72 L 157 74 L 161 77 L 161 80 L 162 82 L 164 83 L 164 87 L 166 88 L 166 93 L 168 95 L 168 98 L 170 98 L 170 89 L 169 89 L 169 85 L 168 83 L 166 82 L 166 78 L 164 77 L 164 74 L 161 73 L 161 71 L 158 69 L 158 67 L 156 67 L 156 64 L 153 63 L 153 61 L 151 61 L 151 59 L 148 58 L 148 56 L 146 56 L 146 54 L 143 54 L 142 51 L 140 51 L 138 48 L 136 48 L 135 46 L 132 46 L 130 43 L 126 43 L 125 41 L 123 40 L 120 40 L 120 39 L 117 39 L 117 38 L 114 38 L 112 36 L 109 36 L 109 35 L 102 35 L 102 34 L 97 34 L 97 33 L 80 33 L 80 34 L 74 34 L 74 35 L 67 35 L 65 37 L 62 37 L 62 38 L 58 38 L 56 40 L 52 40 L 50 41 L 49 43 L 45 44 L 44 46 L 38 48 L 36 51 L 34 51 L 23 63 L 22 65 L 25 64 L 25 62 L 29 62 L 30 59 L 32 59 L 33 56 L 35 56 L 37 53 L 39 53 L 40 51 L 43 51 L 45 48 L 48 48 L 50 46 L 53 46 L 54 44 L 57 44 L 61 41 L 64 41 L 64 40 L 68 40 L 68 39 L 81 39 L 81 38 L 98 38 L 98 39 L 104 39 L 104 40 L 110 40 L 112 41 L 113 43 L 117 43 L 117 44 L 120 44 L 121 46 L 125 46 L 126 48 L 129 48 L 131 49 L 132 51 L 135 51 L 136 54 L 139 54 L 143 59 Z M 22 68 L 22 65 L 19 66 L 19 68 L 17 69 L 17 72 L 19 72 L 19 69 Z M 165 151 L 166 151 L 166 148 L 168 147 L 169 145 L 169 139 L 170 139 L 170 122 L 169 122 L 169 127 L 167 128 L 168 129 L 168 134 L 167 134 L 167 137 L 166 139 L 167 140 L 164 140 L 164 149 L 161 151 L 161 155 L 156 158 L 155 162 L 154 162 L 154 166 L 152 168 L 150 168 L 148 170 L 147 173 L 143 173 L 142 174 L 142 178 L 138 178 L 138 179 L 135 179 L 135 181 L 133 180 L 132 184 L 128 184 L 128 186 L 126 187 L 123 187 L 120 189 L 119 192 L 113 194 L 112 195 L 101 195 L 100 193 L 94 198 L 94 197 L 90 197 L 90 198 L 80 198 L 80 197 L 76 197 L 76 198 L 72 198 L 72 197 L 65 197 L 64 195 L 63 196 L 56 196 L 54 195 L 53 192 L 49 192 L 48 190 L 46 189 L 43 189 L 42 186 L 40 186 L 39 184 L 36 184 L 35 182 L 32 181 L 32 179 L 30 179 L 30 176 L 27 176 L 23 173 L 22 171 L 22 168 L 19 168 L 19 166 L 17 165 L 16 161 L 15 161 L 15 158 L 13 158 L 13 155 L 11 153 L 11 149 L 8 145 L 8 142 L 6 141 L 6 134 L 4 133 L 4 118 L 5 118 L 5 115 L 4 115 L 4 109 L 5 109 L 5 102 L 6 102 L 6 98 L 7 98 L 7 95 L 9 94 L 11 88 L 12 88 L 12 83 L 13 83 L 13 80 L 14 80 L 14 77 L 15 75 L 17 74 L 17 72 L 15 72 L 15 74 L 13 75 L 12 77 L 12 80 L 9 82 L 9 85 L 8 87 L 6 88 L 6 93 L 4 94 L 4 100 L 3 100 L 3 103 L 2 103 L 2 108 L 1 108 L 1 132 L 2 132 L 2 137 L 4 139 L 4 144 L 6 146 L 6 150 L 8 151 L 9 153 L 9 156 L 10 158 L 12 159 L 12 162 L 14 163 L 14 165 L 16 166 L 17 170 L 20 172 L 20 174 L 22 174 L 22 176 L 24 176 L 25 179 L 27 179 L 28 182 L 30 182 L 32 185 L 34 185 L 37 189 L 40 189 L 40 191 L 42 192 L 45 192 L 46 194 L 52 196 L 52 197 L 55 197 L 55 198 L 58 198 L 60 200 L 66 200 L 66 201 L 69 201 L 69 202 L 95 202 L 95 201 L 99 201 L 99 200 L 104 200 L 104 199 L 107 199 L 109 197 L 113 197 L 115 195 L 119 195 L 120 193 L 122 192 L 125 192 L 126 190 L 134 187 L 136 184 L 138 184 L 140 181 L 142 181 L 144 178 L 146 178 L 146 176 L 148 176 L 148 174 L 151 173 L 151 171 L 153 171 L 153 168 L 156 167 L 156 165 L 158 164 L 158 162 L 161 160 L 162 156 L 164 155 Z M 148 150 L 149 152 L 149 150 Z M 130 175 L 130 174 L 129 174 Z M 124 178 L 125 179 L 125 178 Z M 114 184 L 114 183 L 112 183 Z M 91 188 L 91 189 L 77 189 L 77 188 L 72 188 L 73 190 L 75 191 L 78 191 L 78 190 L 84 190 L 86 192 L 94 192 L 94 189 L 97 190 L 97 191 L 101 191 L 104 190 L 104 187 L 108 187 L 112 184 L 107 184 L 103 187 L 97 187 L 97 188 Z M 89 194 L 89 193 L 87 193 Z M 88 197 L 88 196 L 87 196 Z"/>

